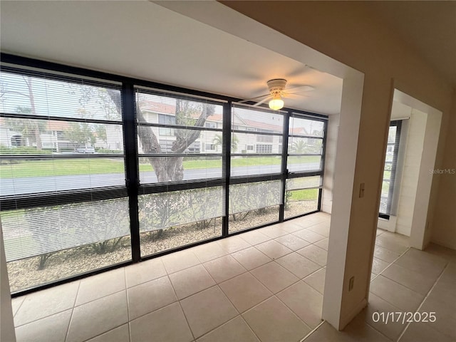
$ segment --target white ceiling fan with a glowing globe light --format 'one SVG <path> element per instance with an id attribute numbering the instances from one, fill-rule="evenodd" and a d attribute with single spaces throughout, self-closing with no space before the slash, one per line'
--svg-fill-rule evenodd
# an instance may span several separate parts
<path id="1" fill-rule="evenodd" d="M 249 98 L 248 100 L 239 101 L 239 103 L 245 103 L 253 100 L 259 100 L 259 102 L 255 103 L 254 106 L 261 105 L 269 100 L 269 108 L 272 110 L 279 110 L 284 108 L 284 100 L 282 98 L 292 98 L 295 95 L 297 96 L 305 96 L 304 94 L 296 93 L 296 90 L 299 91 L 309 91 L 314 90 L 315 88 L 312 86 L 297 86 L 293 88 L 285 89 L 286 87 L 286 80 L 284 78 L 274 78 L 273 80 L 269 80 L 266 82 L 269 88 L 269 94 L 264 94 L 257 96 L 256 98 Z M 289 93 L 289 90 L 295 90 L 293 93 Z"/>

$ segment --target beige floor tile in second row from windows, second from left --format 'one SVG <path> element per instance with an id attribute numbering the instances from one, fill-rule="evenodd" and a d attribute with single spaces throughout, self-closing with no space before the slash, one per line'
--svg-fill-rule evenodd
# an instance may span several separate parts
<path id="1" fill-rule="evenodd" d="M 124 290 L 76 306 L 66 341 L 86 341 L 127 322 L 127 294 Z"/>

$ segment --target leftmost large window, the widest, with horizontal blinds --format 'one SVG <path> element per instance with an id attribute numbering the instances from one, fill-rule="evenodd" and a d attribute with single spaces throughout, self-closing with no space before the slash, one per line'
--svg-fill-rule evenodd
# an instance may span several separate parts
<path id="1" fill-rule="evenodd" d="M 120 84 L 11 68 L 0 83 L 11 291 L 131 259 Z"/>

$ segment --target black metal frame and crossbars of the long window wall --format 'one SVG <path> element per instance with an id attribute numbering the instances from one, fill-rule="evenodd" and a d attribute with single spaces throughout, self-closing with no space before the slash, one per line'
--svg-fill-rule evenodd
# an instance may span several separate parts
<path id="1" fill-rule="evenodd" d="M 71 191 L 68 193 L 56 194 L 55 192 L 48 193 L 42 192 L 39 194 L 24 195 L 24 196 L 14 196 L 14 197 L 0 197 L 0 210 L 11 210 L 11 209 L 22 209 L 37 207 L 37 203 L 46 203 L 46 205 L 56 205 L 63 203 L 77 203 L 84 202 L 86 200 L 93 199 L 111 199 L 119 197 L 128 197 L 129 203 L 129 212 L 130 212 L 130 236 L 131 236 L 131 253 L 132 259 L 130 261 L 121 262 L 119 264 L 113 264 L 107 267 L 100 269 L 95 269 L 92 271 L 84 272 L 76 276 L 70 276 L 63 279 L 58 279 L 50 283 L 41 284 L 38 286 L 33 286 L 22 291 L 16 291 L 12 296 L 21 296 L 24 294 L 31 293 L 33 291 L 38 291 L 41 289 L 46 289 L 51 286 L 56 286 L 58 284 L 65 284 L 68 281 L 73 281 L 76 279 L 83 279 L 86 276 L 93 274 L 98 274 L 103 271 L 110 269 L 115 269 L 121 266 L 127 266 L 129 264 L 137 263 L 142 260 L 152 259 L 155 257 L 160 257 L 165 254 L 170 254 L 172 252 L 187 249 L 190 247 L 195 247 L 199 244 L 204 244 L 207 242 L 216 241 L 218 239 L 223 239 L 229 236 L 236 234 L 242 234 L 253 229 L 258 229 L 261 227 L 266 227 L 270 224 L 276 224 L 278 222 L 284 222 L 288 219 L 294 219 L 296 217 L 305 216 L 313 212 L 307 212 L 296 217 L 290 217 L 284 219 L 284 198 L 285 198 L 285 182 L 289 178 L 293 177 L 305 177 L 305 176 L 314 176 L 320 175 L 323 179 L 324 172 L 324 157 L 326 150 L 326 131 L 327 131 L 327 115 L 321 115 L 316 113 L 306 112 L 304 110 L 291 110 L 284 108 L 284 130 L 281 134 L 270 133 L 270 132 L 259 132 L 258 130 L 248 130 L 247 128 L 239 129 L 239 127 L 233 127 L 232 129 L 232 107 L 234 103 L 239 103 L 242 101 L 240 98 L 232 98 L 224 95 L 217 95 L 213 93 L 207 93 L 199 90 L 192 90 L 187 88 L 181 88 L 176 86 L 169 86 L 161 83 L 150 82 L 141 80 L 138 78 L 130 78 L 125 76 L 119 76 L 112 73 L 104 73 L 100 71 L 92 71 L 86 68 L 79 68 L 73 66 L 66 66 L 60 63 L 53 63 L 47 61 L 40 61 L 33 58 L 26 58 L 21 56 L 11 55 L 9 53 L 1 53 L 1 70 L 14 70 L 16 73 L 38 73 L 46 74 L 46 76 L 53 77 L 55 76 L 59 80 L 72 80 L 80 81 L 83 78 L 96 78 L 103 80 L 100 82 L 101 85 L 106 86 L 112 84 L 113 82 L 121 83 L 121 96 L 122 96 L 122 120 L 120 124 L 123 129 L 123 151 L 121 155 L 125 160 L 125 186 L 120 187 L 100 187 L 95 190 L 92 189 L 90 192 L 85 190 Z M 48 72 L 46 72 L 48 71 Z M 197 180 L 197 181 L 184 181 L 178 182 L 175 184 L 140 184 L 139 178 L 139 164 L 138 158 L 145 155 L 140 155 L 138 152 L 138 122 L 136 120 L 135 108 L 135 87 L 147 87 L 155 88 L 165 93 L 179 93 L 185 94 L 190 100 L 199 100 L 200 98 L 213 99 L 216 103 L 223 103 L 223 127 L 222 128 L 205 128 L 205 130 L 215 130 L 222 132 L 222 177 L 208 179 L 208 180 Z M 251 103 L 253 104 L 253 103 Z M 269 110 L 266 106 L 255 107 L 259 110 Z M 1 113 L 1 116 L 13 116 L 18 118 L 17 115 Z M 290 155 L 288 151 L 288 140 L 289 140 L 289 119 L 291 116 L 298 115 L 302 118 L 309 118 L 311 120 L 322 121 L 324 123 L 323 128 L 323 141 L 322 141 L 322 151 L 321 151 L 321 167 L 320 170 L 311 170 L 311 171 L 302 171 L 302 172 L 289 172 L 287 170 L 287 157 Z M 27 118 L 30 118 L 30 115 L 27 115 Z M 41 118 L 41 117 L 38 117 Z M 71 120 L 68 118 L 51 118 L 51 120 Z M 94 123 L 103 123 L 103 120 L 93 120 Z M 113 123 L 113 121 L 109 121 Z M 160 125 L 157 125 L 160 126 Z M 164 128 L 174 128 L 173 125 L 162 125 Z M 218 126 L 218 125 L 217 125 Z M 182 127 L 180 127 L 182 128 Z M 232 155 L 237 155 L 232 153 L 231 149 L 231 135 L 232 133 L 254 133 L 259 135 L 278 135 L 281 140 L 281 152 L 280 153 L 266 153 L 266 155 L 280 155 L 281 156 L 281 172 L 276 174 L 266 174 L 266 175 L 253 175 L 253 176 L 237 176 L 231 177 L 230 167 L 231 167 L 231 157 Z M 316 137 L 309 137 L 316 138 Z M 318 137 L 317 137 L 318 138 Z M 201 149 L 201 147 L 200 147 Z M 211 153 L 211 155 L 214 155 Z M 248 155 L 251 155 L 250 153 Z M 31 156 L 27 156 L 30 158 Z M 257 227 L 251 227 L 244 229 L 238 232 L 229 232 L 229 185 L 242 184 L 247 182 L 262 182 L 265 180 L 280 180 L 281 181 L 281 204 L 279 204 L 279 219 L 276 222 L 270 222 L 268 224 L 263 224 Z M 169 192 L 175 190 L 185 190 L 185 189 L 198 189 L 202 187 L 219 187 L 222 186 L 224 189 L 224 203 L 225 203 L 225 214 L 223 217 L 222 225 L 222 236 L 215 237 L 212 239 L 207 239 L 192 244 L 188 244 L 176 249 L 165 250 L 156 254 L 149 255 L 147 257 L 142 257 L 140 254 L 140 231 L 139 231 L 139 218 L 138 218 L 138 196 L 147 193 L 155 192 Z M 321 193 L 322 187 L 318 187 L 318 209 L 314 212 L 318 212 L 321 209 Z"/>

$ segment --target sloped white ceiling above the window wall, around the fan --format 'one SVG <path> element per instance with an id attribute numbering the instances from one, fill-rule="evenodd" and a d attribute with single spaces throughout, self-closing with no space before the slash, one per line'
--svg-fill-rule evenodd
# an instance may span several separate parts
<path id="1" fill-rule="evenodd" d="M 148 1 L 1 1 L 1 51 L 237 98 L 313 86 L 286 107 L 338 113 L 342 79 Z"/>

